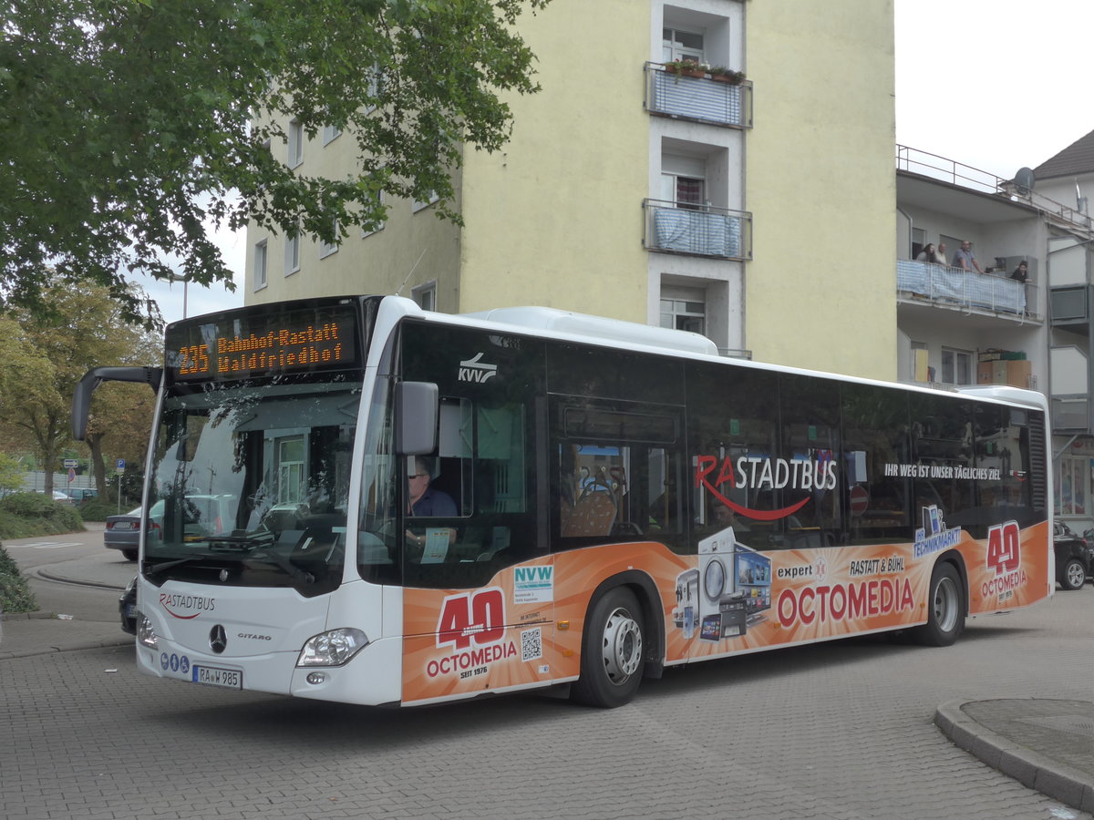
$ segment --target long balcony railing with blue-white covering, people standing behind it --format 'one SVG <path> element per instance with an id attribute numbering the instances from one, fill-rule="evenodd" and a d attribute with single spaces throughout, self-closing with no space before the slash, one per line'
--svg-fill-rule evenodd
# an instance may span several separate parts
<path id="1" fill-rule="evenodd" d="M 1023 284 L 1009 277 L 897 259 L 896 289 L 899 294 L 906 294 L 912 300 L 926 300 L 945 307 L 1040 318 L 1037 311 L 1037 286 L 1032 283 Z"/>

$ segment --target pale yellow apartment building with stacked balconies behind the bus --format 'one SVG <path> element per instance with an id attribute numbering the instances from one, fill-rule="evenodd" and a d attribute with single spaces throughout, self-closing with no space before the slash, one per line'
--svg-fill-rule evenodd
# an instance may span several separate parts
<path id="1" fill-rule="evenodd" d="M 502 151 L 465 153 L 464 226 L 394 199 L 334 246 L 252 225 L 246 304 L 534 304 L 897 376 L 892 0 L 554 0 L 520 26 L 543 90 L 508 101 Z M 330 129 L 272 150 L 336 177 L 354 154 Z"/>

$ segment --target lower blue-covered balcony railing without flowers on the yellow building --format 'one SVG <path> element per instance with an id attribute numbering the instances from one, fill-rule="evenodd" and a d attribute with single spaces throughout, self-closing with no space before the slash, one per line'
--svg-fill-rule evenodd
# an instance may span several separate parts
<path id="1" fill-rule="evenodd" d="M 752 259 L 752 214 L 712 206 L 682 207 L 660 199 L 642 201 L 642 246 L 664 254 Z"/>

